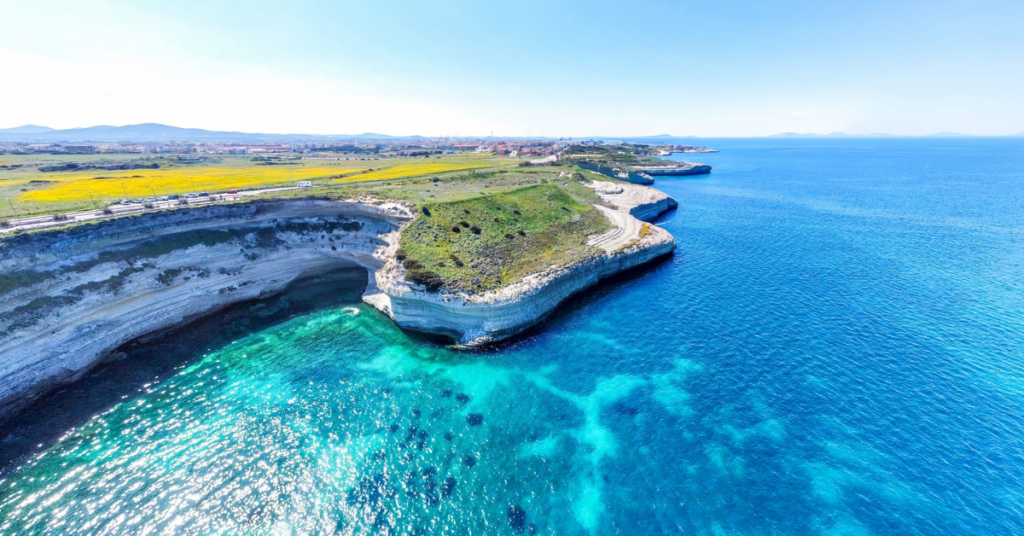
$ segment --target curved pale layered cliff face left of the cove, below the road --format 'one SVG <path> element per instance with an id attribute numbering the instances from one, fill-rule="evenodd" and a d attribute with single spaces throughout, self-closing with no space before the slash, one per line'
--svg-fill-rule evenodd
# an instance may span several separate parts
<path id="1" fill-rule="evenodd" d="M 0 247 L 0 418 L 122 343 L 343 265 L 371 274 L 411 208 L 290 200 L 158 212 Z"/>

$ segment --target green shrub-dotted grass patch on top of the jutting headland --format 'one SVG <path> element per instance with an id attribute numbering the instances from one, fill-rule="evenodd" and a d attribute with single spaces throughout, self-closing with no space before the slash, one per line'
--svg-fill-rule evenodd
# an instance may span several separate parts
<path id="1" fill-rule="evenodd" d="M 598 254 L 587 237 L 610 229 L 575 180 L 543 181 L 510 192 L 424 203 L 401 233 L 407 278 L 428 288 L 486 291 Z"/>

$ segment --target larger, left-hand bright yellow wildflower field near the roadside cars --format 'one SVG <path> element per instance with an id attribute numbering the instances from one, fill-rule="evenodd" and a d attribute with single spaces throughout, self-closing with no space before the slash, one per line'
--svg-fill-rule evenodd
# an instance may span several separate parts
<path id="1" fill-rule="evenodd" d="M 273 185 L 294 185 L 298 180 L 326 178 L 332 175 L 361 171 L 367 163 L 348 166 L 293 167 L 196 167 L 177 169 L 131 169 L 90 171 L 87 173 L 52 173 L 34 176 L 53 185 L 25 192 L 20 202 L 109 202 L 115 199 L 167 196 L 189 192 L 219 192 Z"/>

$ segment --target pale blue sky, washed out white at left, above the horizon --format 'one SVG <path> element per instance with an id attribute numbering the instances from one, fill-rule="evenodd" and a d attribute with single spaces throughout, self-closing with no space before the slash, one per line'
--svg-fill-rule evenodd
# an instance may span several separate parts
<path id="1" fill-rule="evenodd" d="M 0 127 L 1024 131 L 1024 2 L 0 0 Z"/>

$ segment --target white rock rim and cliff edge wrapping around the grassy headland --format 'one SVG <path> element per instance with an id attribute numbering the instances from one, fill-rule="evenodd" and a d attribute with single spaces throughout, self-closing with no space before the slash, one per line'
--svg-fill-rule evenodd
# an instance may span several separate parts
<path id="1" fill-rule="evenodd" d="M 610 232 L 591 238 L 604 254 L 567 266 L 553 265 L 483 294 L 427 292 L 402 277 L 395 260 L 398 234 L 386 238 L 384 267 L 371 279 L 364 300 L 402 328 L 438 333 L 467 346 L 495 342 L 540 322 L 559 303 L 601 279 L 638 266 L 676 247 L 667 231 L 638 219 L 653 219 L 676 206 L 671 197 L 650 188 L 594 181 L 595 192 L 614 208 L 598 206 L 614 223 Z"/>

